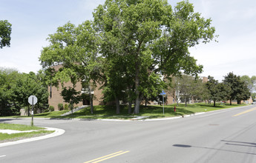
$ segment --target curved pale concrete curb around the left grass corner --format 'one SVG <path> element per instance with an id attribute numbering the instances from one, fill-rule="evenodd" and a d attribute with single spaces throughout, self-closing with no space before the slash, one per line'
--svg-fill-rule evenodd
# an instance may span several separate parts
<path id="1" fill-rule="evenodd" d="M 65 133 L 65 130 L 59 129 L 59 128 L 52 128 L 52 127 L 45 127 L 46 130 L 55 130 L 54 133 L 50 133 L 48 135 L 45 136 L 39 136 L 39 137 L 34 137 L 34 138 L 30 138 L 30 139 L 22 139 L 22 140 L 18 140 L 15 142 L 4 142 L 4 143 L 0 143 L 0 147 L 6 147 L 9 145 L 14 145 L 14 144 L 21 144 L 21 143 L 26 143 L 26 142 L 33 142 L 33 141 L 37 141 L 37 140 L 42 140 L 42 139 L 48 139 L 48 138 L 52 138 L 55 136 L 60 136 L 63 133 Z"/>

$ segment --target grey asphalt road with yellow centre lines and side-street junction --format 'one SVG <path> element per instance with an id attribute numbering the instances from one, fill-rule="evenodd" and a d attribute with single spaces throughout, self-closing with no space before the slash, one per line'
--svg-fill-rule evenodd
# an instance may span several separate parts
<path id="1" fill-rule="evenodd" d="M 256 162 L 255 117 L 256 105 L 152 122 L 35 119 L 38 126 L 66 132 L 0 147 L 0 162 Z"/>

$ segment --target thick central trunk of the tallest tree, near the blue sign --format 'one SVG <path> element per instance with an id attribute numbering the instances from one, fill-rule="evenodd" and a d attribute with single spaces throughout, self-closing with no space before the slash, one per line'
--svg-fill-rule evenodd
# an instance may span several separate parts
<path id="1" fill-rule="evenodd" d="M 134 107 L 134 113 L 138 114 L 140 113 L 140 70 L 139 70 L 139 66 L 138 63 L 135 65 L 135 95 L 136 95 L 136 99 L 135 99 L 135 107 Z"/>

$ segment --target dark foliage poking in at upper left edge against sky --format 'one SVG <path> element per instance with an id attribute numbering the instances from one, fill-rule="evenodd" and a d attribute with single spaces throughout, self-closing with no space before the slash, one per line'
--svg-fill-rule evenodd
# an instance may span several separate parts
<path id="1" fill-rule="evenodd" d="M 0 48 L 10 47 L 10 33 L 12 32 L 12 24 L 7 20 L 0 20 Z"/>

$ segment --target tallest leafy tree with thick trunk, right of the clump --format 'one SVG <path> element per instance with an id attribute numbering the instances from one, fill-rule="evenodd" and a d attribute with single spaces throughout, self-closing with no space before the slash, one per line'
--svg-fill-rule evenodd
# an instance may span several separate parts
<path id="1" fill-rule="evenodd" d="M 203 67 L 196 64 L 188 48 L 214 39 L 211 19 L 194 13 L 188 1 L 173 9 L 163 0 L 107 0 L 93 17 L 102 38 L 102 55 L 107 61 L 125 60 L 126 70 L 134 74 L 134 113 L 140 113 L 145 73 L 162 71 L 163 76 L 171 76 L 183 70 L 197 75 Z"/>

